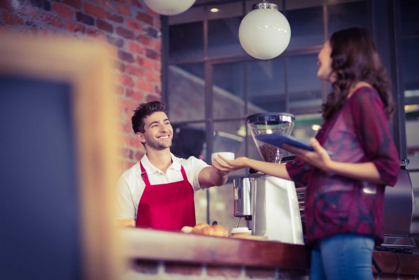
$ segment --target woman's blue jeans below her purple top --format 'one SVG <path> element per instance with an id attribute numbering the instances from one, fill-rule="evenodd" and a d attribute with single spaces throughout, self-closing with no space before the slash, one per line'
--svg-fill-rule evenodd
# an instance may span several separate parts
<path id="1" fill-rule="evenodd" d="M 372 280 L 374 238 L 339 234 L 311 251 L 310 280 Z"/>

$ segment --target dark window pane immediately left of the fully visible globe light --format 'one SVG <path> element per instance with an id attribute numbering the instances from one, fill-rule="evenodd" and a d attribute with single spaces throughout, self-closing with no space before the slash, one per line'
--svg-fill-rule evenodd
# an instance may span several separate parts
<path id="1" fill-rule="evenodd" d="M 208 56 L 243 55 L 238 39 L 241 17 L 208 21 Z"/>

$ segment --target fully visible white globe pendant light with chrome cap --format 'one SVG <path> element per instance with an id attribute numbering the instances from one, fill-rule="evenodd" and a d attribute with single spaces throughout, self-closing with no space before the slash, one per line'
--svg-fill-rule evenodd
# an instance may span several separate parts
<path id="1" fill-rule="evenodd" d="M 290 24 L 278 5 L 262 1 L 252 8 L 238 29 L 240 44 L 254 58 L 275 58 L 290 43 Z"/>

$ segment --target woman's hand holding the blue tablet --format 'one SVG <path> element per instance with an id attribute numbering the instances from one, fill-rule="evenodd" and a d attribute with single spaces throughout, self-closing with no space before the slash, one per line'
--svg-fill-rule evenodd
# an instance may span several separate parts
<path id="1" fill-rule="evenodd" d="M 294 153 L 296 157 L 299 157 L 305 162 L 310 163 L 310 165 L 313 165 L 325 172 L 329 172 L 333 165 L 333 160 L 330 159 L 327 151 L 321 147 L 315 138 L 310 139 L 310 144 L 313 146 L 314 152 L 295 148 L 287 144 L 284 144 L 284 147 L 290 152 Z"/>

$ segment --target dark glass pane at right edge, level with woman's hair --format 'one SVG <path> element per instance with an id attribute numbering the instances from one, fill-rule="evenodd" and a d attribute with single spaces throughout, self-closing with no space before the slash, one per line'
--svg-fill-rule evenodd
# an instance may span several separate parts
<path id="1" fill-rule="evenodd" d="M 417 52 L 419 39 L 409 39 L 403 42 L 403 80 L 405 102 L 409 98 L 419 97 L 419 64 Z"/>

